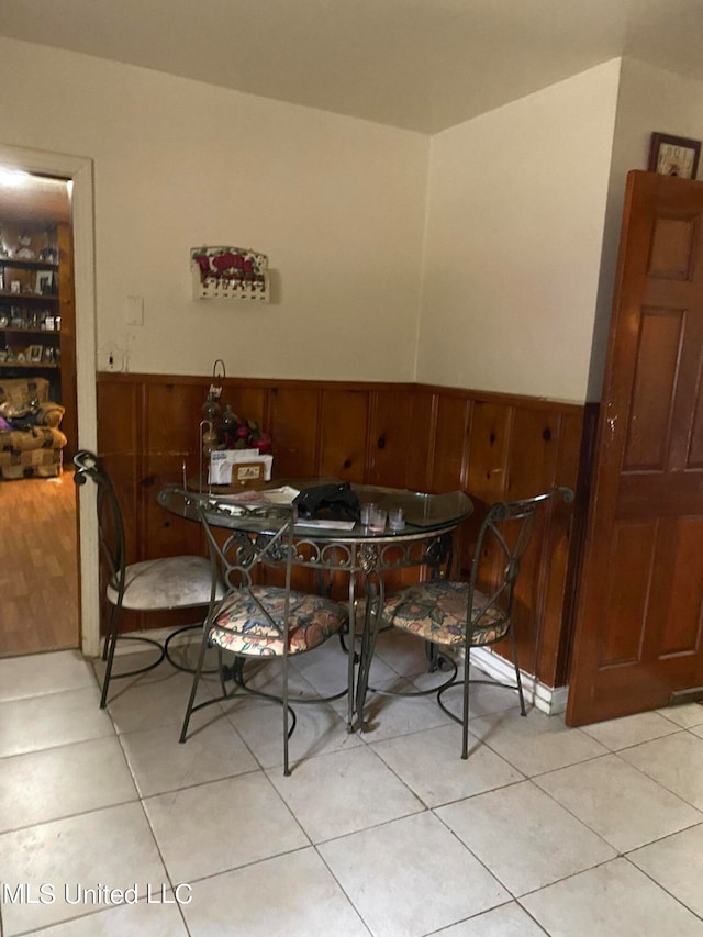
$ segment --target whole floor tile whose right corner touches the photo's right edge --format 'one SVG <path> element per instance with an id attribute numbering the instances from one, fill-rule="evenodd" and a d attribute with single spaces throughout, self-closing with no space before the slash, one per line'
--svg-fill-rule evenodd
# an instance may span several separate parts
<path id="1" fill-rule="evenodd" d="M 535 783 L 620 852 L 701 822 L 701 813 L 618 755 L 562 768 Z"/>

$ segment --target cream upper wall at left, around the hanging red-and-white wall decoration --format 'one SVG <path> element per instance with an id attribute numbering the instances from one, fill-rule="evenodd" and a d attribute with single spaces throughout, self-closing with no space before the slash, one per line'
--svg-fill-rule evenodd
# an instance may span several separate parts
<path id="1" fill-rule="evenodd" d="M 0 143 L 93 160 L 99 368 L 412 380 L 428 137 L 9 40 L 0 83 Z M 203 244 L 267 254 L 275 301 L 193 301 Z"/>

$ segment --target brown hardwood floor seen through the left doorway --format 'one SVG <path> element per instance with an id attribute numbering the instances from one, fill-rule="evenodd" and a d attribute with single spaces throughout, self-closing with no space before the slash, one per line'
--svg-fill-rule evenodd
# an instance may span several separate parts
<path id="1" fill-rule="evenodd" d="M 72 479 L 0 481 L 0 657 L 79 646 Z"/>

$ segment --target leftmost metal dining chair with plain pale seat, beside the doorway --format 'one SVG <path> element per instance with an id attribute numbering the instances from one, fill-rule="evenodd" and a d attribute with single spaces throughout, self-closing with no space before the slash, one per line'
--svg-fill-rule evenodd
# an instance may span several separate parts
<path id="1" fill-rule="evenodd" d="M 223 589 L 221 583 L 213 582 L 211 564 L 204 556 L 169 556 L 127 562 L 122 510 L 103 460 L 94 453 L 81 449 L 74 456 L 74 464 L 76 484 L 85 484 L 90 479 L 97 487 L 101 588 L 104 590 L 103 599 L 108 605 L 102 648 L 105 672 L 100 696 L 100 709 L 104 709 L 112 680 L 153 670 L 167 655 L 166 643 L 146 635 L 121 634 L 122 611 L 127 609 L 135 612 L 165 612 L 202 607 L 204 620 L 205 609 L 213 599 L 223 594 Z M 123 640 L 140 642 L 153 647 L 155 659 L 144 667 L 114 673 L 115 649 L 118 643 Z"/>

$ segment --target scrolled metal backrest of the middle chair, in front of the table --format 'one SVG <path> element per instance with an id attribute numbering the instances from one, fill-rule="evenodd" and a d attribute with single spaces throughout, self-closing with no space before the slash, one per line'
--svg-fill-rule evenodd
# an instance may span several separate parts
<path id="1" fill-rule="evenodd" d="M 269 625 L 283 638 L 284 647 L 288 647 L 291 576 L 295 557 L 293 531 L 298 512 L 294 507 L 280 504 L 247 504 L 242 505 L 241 511 L 237 528 L 222 539 L 215 533 L 217 521 L 221 520 L 221 507 L 207 500 L 198 506 L 213 565 L 213 581 L 215 578 L 221 580 L 225 589 L 217 607 L 225 604 L 235 590 L 246 591 Z M 266 602 L 252 592 L 255 570 L 261 566 L 284 570 L 283 607 L 277 609 L 278 621 L 270 614 Z M 216 609 L 211 606 L 211 621 L 213 611 L 216 617 Z M 282 626 L 279 622 L 282 622 Z"/>

